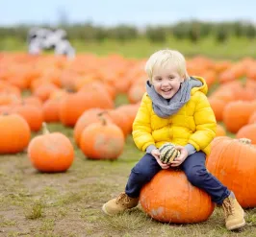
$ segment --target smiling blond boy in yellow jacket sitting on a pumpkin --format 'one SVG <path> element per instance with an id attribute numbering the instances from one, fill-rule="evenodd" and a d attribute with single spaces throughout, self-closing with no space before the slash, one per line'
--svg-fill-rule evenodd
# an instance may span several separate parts
<path id="1" fill-rule="evenodd" d="M 186 60 L 178 51 L 154 53 L 145 64 L 145 71 L 149 81 L 133 124 L 133 138 L 146 154 L 132 169 L 125 192 L 106 202 L 103 211 L 115 215 L 137 206 L 146 182 L 161 169 L 180 166 L 192 185 L 222 204 L 229 230 L 242 227 L 243 208 L 234 193 L 205 168 L 217 127 L 206 97 L 207 84 L 202 78 L 189 77 Z M 170 166 L 161 162 L 158 150 L 166 142 L 175 144 L 181 153 Z"/>

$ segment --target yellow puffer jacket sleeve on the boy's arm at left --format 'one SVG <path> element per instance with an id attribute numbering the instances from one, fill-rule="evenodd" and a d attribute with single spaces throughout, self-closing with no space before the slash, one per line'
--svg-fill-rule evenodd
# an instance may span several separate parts
<path id="1" fill-rule="evenodd" d="M 145 151 L 150 145 L 155 145 L 155 141 L 151 134 L 151 115 L 147 107 L 148 102 L 150 103 L 151 101 L 145 93 L 141 100 L 141 107 L 139 108 L 133 123 L 133 139 L 136 146 L 141 151 Z"/>

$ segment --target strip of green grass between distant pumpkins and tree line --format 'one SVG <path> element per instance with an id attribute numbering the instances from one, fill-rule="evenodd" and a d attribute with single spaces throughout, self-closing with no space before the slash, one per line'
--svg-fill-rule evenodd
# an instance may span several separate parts
<path id="1" fill-rule="evenodd" d="M 243 57 L 256 58 L 256 39 L 230 37 L 224 43 L 217 43 L 211 36 L 203 38 L 197 43 L 188 39 L 177 40 L 173 37 L 167 38 L 164 43 L 151 43 L 146 38 L 138 38 L 127 42 L 105 40 L 103 42 L 90 42 L 74 40 L 71 42 L 79 53 L 93 53 L 100 56 L 108 54 L 120 54 L 127 58 L 148 58 L 154 51 L 163 48 L 180 50 L 187 57 L 198 54 L 213 59 L 242 59 Z M 2 38 L 0 40 L 0 51 L 26 51 L 26 42 L 15 38 Z"/>

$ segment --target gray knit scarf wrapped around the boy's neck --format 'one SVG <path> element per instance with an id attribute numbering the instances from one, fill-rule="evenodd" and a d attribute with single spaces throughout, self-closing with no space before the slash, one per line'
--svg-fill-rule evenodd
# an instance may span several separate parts
<path id="1" fill-rule="evenodd" d="M 200 87 L 202 84 L 199 80 L 191 77 L 190 80 L 181 83 L 179 90 L 170 100 L 166 100 L 158 94 L 149 81 L 146 82 L 146 92 L 152 101 L 154 112 L 161 118 L 167 118 L 176 113 L 191 99 L 192 87 Z"/>

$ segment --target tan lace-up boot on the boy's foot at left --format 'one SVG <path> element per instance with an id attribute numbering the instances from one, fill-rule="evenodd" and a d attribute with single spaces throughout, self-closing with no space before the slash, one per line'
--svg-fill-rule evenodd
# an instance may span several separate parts
<path id="1" fill-rule="evenodd" d="M 109 216 L 114 216 L 126 209 L 133 208 L 138 205 L 139 198 L 130 198 L 127 194 L 120 193 L 116 199 L 106 202 L 102 206 L 102 210 Z"/>

